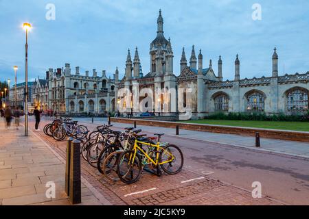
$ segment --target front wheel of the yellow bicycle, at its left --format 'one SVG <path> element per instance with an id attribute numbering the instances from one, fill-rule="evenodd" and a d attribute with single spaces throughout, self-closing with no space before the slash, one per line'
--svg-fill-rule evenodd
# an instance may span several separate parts
<path id="1" fill-rule="evenodd" d="M 119 179 L 126 183 L 135 183 L 141 177 L 141 157 L 135 156 L 135 152 L 126 151 L 117 160 L 117 175 Z"/>

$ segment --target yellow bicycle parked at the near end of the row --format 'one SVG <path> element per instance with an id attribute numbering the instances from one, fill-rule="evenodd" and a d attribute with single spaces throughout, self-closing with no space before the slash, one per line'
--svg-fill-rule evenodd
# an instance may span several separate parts
<path id="1" fill-rule="evenodd" d="M 152 138 L 136 139 L 130 151 L 124 151 L 117 159 L 117 175 L 121 181 L 130 184 L 139 180 L 144 166 L 161 167 L 169 175 L 175 175 L 183 168 L 183 153 L 178 146 L 160 142 L 164 134 L 158 136 L 157 143 Z M 146 149 L 144 149 L 146 146 Z"/>

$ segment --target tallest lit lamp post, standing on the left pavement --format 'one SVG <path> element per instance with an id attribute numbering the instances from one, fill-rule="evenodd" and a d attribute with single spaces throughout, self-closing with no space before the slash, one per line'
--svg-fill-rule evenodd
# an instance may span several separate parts
<path id="1" fill-rule="evenodd" d="M 26 31 L 25 44 L 25 136 L 28 136 L 28 31 L 31 28 L 30 23 L 23 23 L 23 29 Z"/>

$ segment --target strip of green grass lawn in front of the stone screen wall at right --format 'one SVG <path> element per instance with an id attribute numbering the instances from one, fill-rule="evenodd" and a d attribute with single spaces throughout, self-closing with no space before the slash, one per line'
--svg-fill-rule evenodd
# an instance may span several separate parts
<path id="1" fill-rule="evenodd" d="M 293 131 L 309 131 L 308 122 L 273 122 L 273 121 L 242 121 L 242 120 L 189 120 L 184 123 L 197 123 L 209 125 L 229 125 L 239 127 L 253 127 L 264 129 L 284 129 Z"/>

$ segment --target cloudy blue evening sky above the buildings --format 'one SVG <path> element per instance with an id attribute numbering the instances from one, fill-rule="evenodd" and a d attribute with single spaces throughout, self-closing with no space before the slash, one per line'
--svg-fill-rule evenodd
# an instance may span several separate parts
<path id="1" fill-rule="evenodd" d="M 55 6 L 55 19 L 47 20 L 47 4 Z M 261 6 L 261 19 L 253 20 L 253 4 Z M 212 60 L 218 73 L 222 56 L 224 79 L 234 77 L 236 54 L 240 77 L 271 76 L 274 47 L 279 55 L 279 75 L 309 70 L 308 0 L 0 0 L 0 81 L 25 81 L 25 31 L 29 22 L 29 81 L 45 78 L 48 68 L 71 64 L 81 74 L 93 68 L 113 77 L 116 66 L 124 75 L 127 50 L 135 47 L 144 75 L 150 70 L 150 42 L 157 35 L 159 9 L 165 38 L 171 38 L 174 75 L 180 71 L 185 47 L 189 64 L 192 45 L 202 49 L 203 64 Z M 133 58 L 133 57 L 132 57 Z M 12 84 L 12 83 L 11 83 Z"/>

